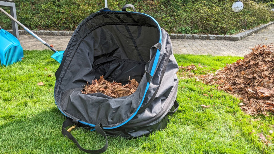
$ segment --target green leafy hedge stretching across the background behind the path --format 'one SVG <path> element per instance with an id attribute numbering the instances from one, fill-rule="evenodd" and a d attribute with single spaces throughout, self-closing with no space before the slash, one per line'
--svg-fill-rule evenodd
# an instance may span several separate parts
<path id="1" fill-rule="evenodd" d="M 242 0 L 235 13 L 235 0 L 108 0 L 111 10 L 134 4 L 137 12 L 153 16 L 169 33 L 235 34 L 274 20 L 272 6 Z M 74 30 L 89 14 L 104 7 L 104 0 L 15 0 L 17 18 L 32 30 Z M 8 8 L 5 8 L 8 11 Z M 0 13 L 0 26 L 11 29 L 11 21 Z"/>

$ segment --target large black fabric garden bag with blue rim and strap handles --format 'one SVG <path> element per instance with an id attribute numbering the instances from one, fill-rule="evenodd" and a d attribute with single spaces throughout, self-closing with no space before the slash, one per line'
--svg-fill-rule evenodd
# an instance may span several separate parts
<path id="1" fill-rule="evenodd" d="M 164 129 L 176 102 L 178 64 L 168 33 L 151 16 L 107 8 L 84 19 L 74 31 L 56 72 L 55 102 L 67 117 L 62 133 L 88 153 L 107 149 L 106 134 L 127 138 Z M 135 10 L 135 9 L 134 9 Z M 108 81 L 139 83 L 130 96 L 82 94 L 83 86 L 104 75 Z M 95 129 L 106 138 L 100 150 L 83 149 L 65 129 L 72 124 Z M 105 134 L 106 133 L 106 134 Z"/>

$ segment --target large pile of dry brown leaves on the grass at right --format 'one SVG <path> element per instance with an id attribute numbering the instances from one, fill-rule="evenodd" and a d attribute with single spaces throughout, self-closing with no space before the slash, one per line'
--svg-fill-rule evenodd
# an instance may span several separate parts
<path id="1" fill-rule="evenodd" d="M 274 112 L 274 46 L 256 46 L 252 52 L 215 74 L 201 75 L 206 84 L 218 84 L 243 100 L 241 108 L 255 115 Z"/>

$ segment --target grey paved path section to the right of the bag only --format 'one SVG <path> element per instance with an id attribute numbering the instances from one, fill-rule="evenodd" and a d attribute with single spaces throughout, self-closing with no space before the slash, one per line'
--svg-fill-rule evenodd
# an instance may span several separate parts
<path id="1" fill-rule="evenodd" d="M 210 54 L 213 56 L 244 56 L 258 44 L 274 43 L 274 24 L 241 41 L 172 39 L 177 54 Z"/>

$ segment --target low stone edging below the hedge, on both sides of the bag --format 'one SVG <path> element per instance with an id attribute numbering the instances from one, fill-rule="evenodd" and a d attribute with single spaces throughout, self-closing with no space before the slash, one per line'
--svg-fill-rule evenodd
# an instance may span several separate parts
<path id="1" fill-rule="evenodd" d="M 262 30 L 270 25 L 274 24 L 274 21 L 267 24 L 263 24 L 260 27 L 246 30 L 236 35 L 198 35 L 198 34 L 170 34 L 171 39 L 202 39 L 202 40 L 229 40 L 240 41 L 243 38 L 250 36 L 251 34 Z M 12 33 L 12 30 L 7 30 Z M 48 36 L 72 36 L 73 31 L 45 31 L 45 30 L 33 30 L 36 35 L 48 35 Z M 19 30 L 19 35 L 30 35 L 26 30 Z"/>

